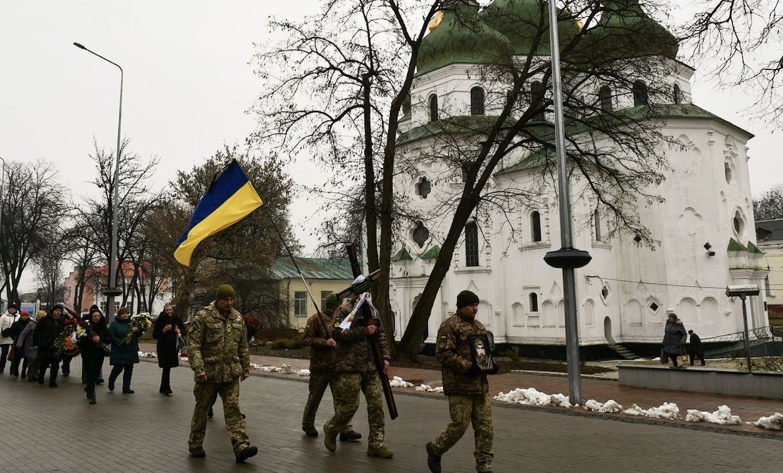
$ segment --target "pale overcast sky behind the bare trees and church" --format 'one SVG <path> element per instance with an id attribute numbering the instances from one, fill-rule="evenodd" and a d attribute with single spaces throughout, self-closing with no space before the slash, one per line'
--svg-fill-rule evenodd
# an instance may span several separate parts
<path id="1" fill-rule="evenodd" d="M 315 13 L 317 0 L 3 0 L 0 2 L 0 156 L 43 158 L 59 167 L 76 194 L 94 174 L 92 140 L 114 149 L 119 71 L 76 48 L 80 42 L 124 69 L 122 134 L 132 151 L 161 157 L 164 185 L 223 143 L 243 142 L 254 126 L 246 111 L 264 84 L 248 62 L 253 43 L 271 41 L 270 15 Z M 716 91 L 698 73 L 696 104 L 756 134 L 750 146 L 753 195 L 781 182 L 770 131 L 740 115 L 742 91 Z M 292 163 L 298 183 L 319 171 Z M 312 206 L 292 209 L 304 226 Z M 313 222 L 317 224 L 318 222 Z M 307 251 L 316 241 L 299 232 Z M 29 286 L 25 289 L 30 288 Z"/>

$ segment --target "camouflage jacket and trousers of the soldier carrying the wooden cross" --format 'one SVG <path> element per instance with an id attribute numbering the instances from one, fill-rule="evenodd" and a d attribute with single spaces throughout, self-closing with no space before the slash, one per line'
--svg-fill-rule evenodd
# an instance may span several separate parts
<path id="1" fill-rule="evenodd" d="M 370 424 L 370 436 L 367 440 L 369 450 L 383 448 L 384 445 L 384 402 L 381 378 L 378 377 L 373 349 L 362 323 L 359 311 L 351 327 L 340 328 L 341 317 L 334 321 L 332 338 L 337 341 L 337 378 L 334 381 L 334 417 L 323 426 L 325 435 L 344 432 L 359 409 L 359 391 L 364 393 L 367 403 L 367 421 Z M 347 315 L 347 314 L 345 314 Z M 377 325 L 376 336 L 381 344 L 384 360 L 389 359 L 386 334 L 381 325 Z M 368 451 L 369 451 L 368 450 Z"/>

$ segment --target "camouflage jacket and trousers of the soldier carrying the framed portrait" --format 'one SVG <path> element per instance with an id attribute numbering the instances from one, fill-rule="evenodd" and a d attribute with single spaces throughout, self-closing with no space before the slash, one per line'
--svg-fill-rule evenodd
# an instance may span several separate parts
<path id="1" fill-rule="evenodd" d="M 489 382 L 485 373 L 470 374 L 473 365 L 470 336 L 486 333 L 484 325 L 459 310 L 438 328 L 435 356 L 442 367 L 443 393 L 449 396 L 451 422 L 432 441 L 432 453 L 442 455 L 473 423 L 476 470 L 492 471 L 493 423 Z"/>

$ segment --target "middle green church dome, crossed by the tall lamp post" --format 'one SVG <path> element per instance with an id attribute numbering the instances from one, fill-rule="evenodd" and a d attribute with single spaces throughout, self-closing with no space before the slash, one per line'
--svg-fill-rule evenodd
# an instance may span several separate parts
<path id="1" fill-rule="evenodd" d="M 490 27 L 500 31 L 514 47 L 514 54 L 529 56 L 549 56 L 549 4 L 539 0 L 495 0 L 484 12 Z M 558 10 L 559 13 L 559 10 Z M 576 20 L 557 22 L 557 38 L 561 48 L 567 45 L 577 34 L 579 24 Z"/>

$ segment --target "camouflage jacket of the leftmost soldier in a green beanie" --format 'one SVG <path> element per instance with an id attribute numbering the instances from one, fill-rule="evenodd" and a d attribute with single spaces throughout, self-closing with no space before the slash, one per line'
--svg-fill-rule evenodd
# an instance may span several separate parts
<path id="1" fill-rule="evenodd" d="M 199 310 L 188 328 L 188 360 L 195 376 L 207 374 L 207 382 L 233 382 L 250 373 L 242 315 L 232 309 L 224 316 L 215 302 Z"/>

